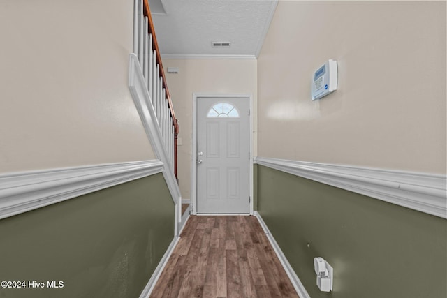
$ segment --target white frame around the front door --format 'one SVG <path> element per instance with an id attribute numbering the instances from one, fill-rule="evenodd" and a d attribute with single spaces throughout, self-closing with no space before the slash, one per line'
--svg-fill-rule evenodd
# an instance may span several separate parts
<path id="1" fill-rule="evenodd" d="M 197 100 L 198 98 L 248 98 L 249 100 L 249 194 L 250 215 L 253 215 L 253 95 L 252 94 L 217 94 L 217 93 L 193 93 L 193 158 L 191 167 L 191 202 L 193 203 L 193 214 L 197 215 Z M 204 214 L 205 215 L 205 214 Z M 222 214 L 219 214 L 222 215 Z M 235 215 L 235 214 L 232 214 Z"/>

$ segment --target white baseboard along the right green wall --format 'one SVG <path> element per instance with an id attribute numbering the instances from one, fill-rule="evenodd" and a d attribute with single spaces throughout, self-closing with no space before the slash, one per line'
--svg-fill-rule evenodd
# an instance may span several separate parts
<path id="1" fill-rule="evenodd" d="M 300 296 L 300 298 L 310 298 L 309 293 L 307 293 L 304 285 L 302 285 L 300 278 L 298 278 L 298 276 L 295 274 L 295 271 L 288 262 L 284 253 L 281 251 L 281 248 L 279 248 L 277 241 L 274 240 L 274 237 L 270 233 L 270 230 L 268 230 L 268 227 L 263 221 L 261 215 L 258 214 L 258 211 L 254 211 L 254 216 L 258 218 L 258 222 L 263 228 L 265 236 L 267 236 L 268 240 L 270 241 L 270 244 L 272 244 L 273 250 L 277 254 L 279 262 L 281 262 L 282 267 L 284 267 L 284 270 L 286 270 L 286 274 L 288 278 L 290 278 L 293 288 L 295 288 L 296 292 L 298 293 L 298 296 Z"/>

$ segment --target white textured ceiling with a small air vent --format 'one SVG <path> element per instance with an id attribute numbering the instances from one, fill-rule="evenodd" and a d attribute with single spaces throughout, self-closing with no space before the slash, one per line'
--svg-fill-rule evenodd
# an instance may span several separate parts
<path id="1" fill-rule="evenodd" d="M 257 57 L 277 0 L 149 0 L 163 57 Z M 228 48 L 211 43 L 231 43 Z"/>

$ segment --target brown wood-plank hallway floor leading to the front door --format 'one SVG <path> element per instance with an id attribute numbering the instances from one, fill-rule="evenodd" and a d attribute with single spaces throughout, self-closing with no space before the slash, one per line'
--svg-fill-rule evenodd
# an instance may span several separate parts
<path id="1" fill-rule="evenodd" d="M 298 297 L 254 216 L 191 216 L 150 297 Z"/>

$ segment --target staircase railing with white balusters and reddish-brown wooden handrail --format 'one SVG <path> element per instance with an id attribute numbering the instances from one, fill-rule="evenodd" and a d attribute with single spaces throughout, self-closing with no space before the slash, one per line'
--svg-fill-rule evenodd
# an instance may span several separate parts
<path id="1" fill-rule="evenodd" d="M 182 197 L 177 184 L 179 125 L 160 57 L 147 0 L 133 3 L 133 53 L 129 57 L 129 89 L 163 176 L 175 203 L 175 235 L 182 221 Z"/>

